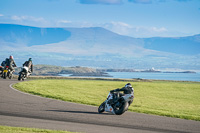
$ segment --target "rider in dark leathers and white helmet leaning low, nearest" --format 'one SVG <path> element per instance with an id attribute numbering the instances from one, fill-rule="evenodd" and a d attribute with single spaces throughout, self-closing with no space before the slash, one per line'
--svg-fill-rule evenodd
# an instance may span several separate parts
<path id="1" fill-rule="evenodd" d="M 133 98 L 134 98 L 134 89 L 131 86 L 131 83 L 127 83 L 121 89 L 118 88 L 118 89 L 115 89 L 115 90 L 111 90 L 110 93 L 120 92 L 120 91 L 123 91 L 124 93 L 123 94 L 119 93 L 119 98 L 122 97 L 122 96 L 124 96 L 125 94 L 133 94 Z M 114 98 L 113 101 L 111 101 L 111 104 L 117 102 L 119 98 Z M 129 106 L 131 105 L 132 102 L 133 102 L 133 100 L 129 102 Z"/>

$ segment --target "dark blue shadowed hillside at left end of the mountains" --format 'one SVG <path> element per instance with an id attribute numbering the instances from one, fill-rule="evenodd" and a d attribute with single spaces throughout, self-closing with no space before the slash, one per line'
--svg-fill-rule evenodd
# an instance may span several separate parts
<path id="1" fill-rule="evenodd" d="M 13 24 L 0 24 L 1 46 L 33 46 L 64 41 L 70 32 L 63 28 L 38 28 Z"/>

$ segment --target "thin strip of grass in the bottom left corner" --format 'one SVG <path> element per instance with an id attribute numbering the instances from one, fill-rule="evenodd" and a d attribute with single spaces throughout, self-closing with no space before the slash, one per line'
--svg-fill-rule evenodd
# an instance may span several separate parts
<path id="1" fill-rule="evenodd" d="M 37 128 L 0 126 L 0 133 L 73 133 L 73 132 L 46 130 Z"/>

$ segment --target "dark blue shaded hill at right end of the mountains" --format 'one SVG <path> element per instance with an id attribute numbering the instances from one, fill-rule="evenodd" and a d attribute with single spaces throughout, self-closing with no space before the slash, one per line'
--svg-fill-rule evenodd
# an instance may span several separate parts
<path id="1" fill-rule="evenodd" d="M 200 53 L 200 34 L 176 38 L 147 38 L 144 47 L 157 51 L 182 55 L 196 55 Z"/>

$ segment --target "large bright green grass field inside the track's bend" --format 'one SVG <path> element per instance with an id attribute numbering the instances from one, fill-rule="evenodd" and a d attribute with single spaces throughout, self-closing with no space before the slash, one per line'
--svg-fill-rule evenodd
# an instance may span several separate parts
<path id="1" fill-rule="evenodd" d="M 20 82 L 15 88 L 43 97 L 99 106 L 125 81 L 51 79 Z M 200 83 L 131 82 L 135 99 L 129 111 L 200 121 Z"/>

